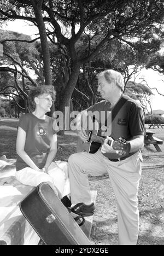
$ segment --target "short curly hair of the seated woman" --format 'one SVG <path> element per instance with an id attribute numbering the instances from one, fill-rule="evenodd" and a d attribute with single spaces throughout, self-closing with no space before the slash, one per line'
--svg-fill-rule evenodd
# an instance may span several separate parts
<path id="1" fill-rule="evenodd" d="M 33 87 L 28 95 L 28 107 L 31 112 L 36 109 L 34 98 L 43 94 L 50 94 L 52 100 L 55 100 L 55 89 L 52 85 L 40 85 L 39 87 Z"/>

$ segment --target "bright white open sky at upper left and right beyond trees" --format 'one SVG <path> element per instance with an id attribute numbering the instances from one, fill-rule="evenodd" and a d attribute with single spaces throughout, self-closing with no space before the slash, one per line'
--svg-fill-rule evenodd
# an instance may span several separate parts
<path id="1" fill-rule="evenodd" d="M 4 30 L 15 31 L 18 33 L 28 34 L 32 39 L 38 37 L 38 28 L 36 26 L 29 26 L 26 21 L 9 21 L 7 26 L 3 27 Z M 159 74 L 153 69 L 142 69 L 136 82 L 140 82 L 141 78 L 147 81 L 150 88 L 157 88 L 157 90 L 164 95 L 164 75 Z M 163 82 L 162 82 L 163 80 Z M 156 90 L 152 90 L 154 96 L 151 98 L 151 107 L 153 110 L 161 109 L 164 110 L 164 96 L 157 94 Z M 150 110 L 150 108 L 148 108 Z"/>

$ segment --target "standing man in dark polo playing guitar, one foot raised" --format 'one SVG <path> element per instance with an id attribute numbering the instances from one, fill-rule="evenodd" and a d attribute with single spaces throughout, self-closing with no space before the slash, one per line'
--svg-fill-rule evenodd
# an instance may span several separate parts
<path id="1" fill-rule="evenodd" d="M 137 195 L 142 161 L 140 148 L 144 146 L 144 114 L 138 102 L 124 95 L 124 86 L 122 75 L 112 69 L 98 75 L 98 91 L 104 101 L 81 113 L 77 120 L 77 133 L 83 144 L 89 143 L 92 136 L 88 133 L 86 125 L 81 126 L 81 117 L 91 117 L 91 113 L 95 111 L 112 112 L 112 131 L 110 137 L 106 136 L 103 139 L 96 153 L 83 151 L 71 155 L 68 159 L 68 171 L 71 183 L 71 210 L 84 216 L 90 216 L 95 212 L 87 174 L 108 172 L 118 204 L 119 245 L 136 245 L 139 227 Z M 101 127 L 107 127 L 107 123 L 107 120 L 104 120 Z M 124 138 L 124 142 L 120 138 Z"/>

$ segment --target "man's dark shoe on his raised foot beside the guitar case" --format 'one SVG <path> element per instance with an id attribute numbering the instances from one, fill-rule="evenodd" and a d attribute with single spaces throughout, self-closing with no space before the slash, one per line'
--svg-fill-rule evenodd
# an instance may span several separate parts
<path id="1" fill-rule="evenodd" d="M 72 212 L 82 216 L 91 216 L 95 213 L 95 205 L 93 202 L 90 205 L 85 205 L 85 203 L 77 203 L 77 205 L 69 209 Z"/>

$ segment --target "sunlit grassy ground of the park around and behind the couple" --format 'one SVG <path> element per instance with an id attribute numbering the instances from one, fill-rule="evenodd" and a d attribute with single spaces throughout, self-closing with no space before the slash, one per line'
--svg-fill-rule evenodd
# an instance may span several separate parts
<path id="1" fill-rule="evenodd" d="M 164 129 L 150 129 L 155 137 L 164 140 Z M 15 142 L 17 120 L 0 119 L 0 156 L 16 158 Z M 67 161 L 75 153 L 77 136 L 66 132 L 58 136 L 56 160 Z M 144 162 L 148 165 L 164 164 L 164 144 L 162 152 L 150 146 L 142 149 Z M 91 240 L 97 245 L 117 245 L 117 208 L 114 193 L 107 174 L 90 177 L 91 187 L 97 190 L 96 213 L 93 218 Z M 164 168 L 151 167 L 143 170 L 139 185 L 140 226 L 138 245 L 164 245 Z"/>

